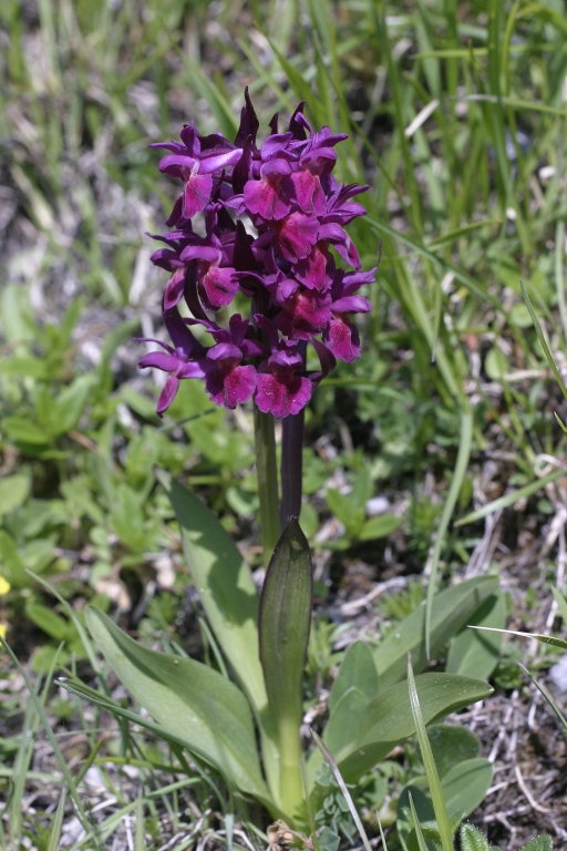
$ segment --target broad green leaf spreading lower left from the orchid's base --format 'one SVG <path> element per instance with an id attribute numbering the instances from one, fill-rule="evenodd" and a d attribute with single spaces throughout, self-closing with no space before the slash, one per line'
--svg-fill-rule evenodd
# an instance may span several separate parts
<path id="1" fill-rule="evenodd" d="M 86 625 L 125 688 L 158 724 L 241 792 L 270 804 L 250 708 L 234 683 L 194 659 L 141 647 L 99 609 L 87 609 Z"/>

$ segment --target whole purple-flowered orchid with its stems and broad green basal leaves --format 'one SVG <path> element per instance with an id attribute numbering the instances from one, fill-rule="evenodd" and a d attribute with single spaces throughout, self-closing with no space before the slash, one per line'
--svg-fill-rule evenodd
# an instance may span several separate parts
<path id="1" fill-rule="evenodd" d="M 272 119 L 271 134 L 258 147 L 258 121 L 245 96 L 234 143 L 219 134 L 200 136 L 189 124 L 182 142 L 158 145 L 169 152 L 161 162 L 162 172 L 183 181 L 168 219 L 173 229 L 157 237 L 165 247 L 153 256 L 172 273 L 163 300 L 172 345 L 159 344 L 164 350 L 147 355 L 141 366 L 168 373 L 159 413 L 185 378 L 204 380 L 210 398 L 226 408 L 252 400 L 267 565 L 261 595 L 219 521 L 190 491 L 159 473 L 221 667 L 226 662 L 231 676 L 194 659 L 148 650 L 90 609 L 86 623 L 97 647 L 154 721 L 94 696 L 76 681 L 65 687 L 152 726 L 172 747 L 214 766 L 230 790 L 260 801 L 295 829 L 305 829 L 309 810 L 320 810 L 326 793 L 318 780 L 320 753 L 307 757 L 300 736 L 313 583 L 309 546 L 297 521 L 302 417 L 336 358 L 350 362 L 360 353 L 352 316 L 370 305 L 355 291 L 373 279 L 374 270 L 360 271 L 344 230 L 363 213 L 353 197 L 364 187 L 340 185 L 332 176 L 334 147 L 344 136 L 328 127 L 313 132 L 300 106 L 284 133 Z M 197 214 L 203 219 L 199 233 L 193 227 Z M 339 268 L 334 254 L 351 269 Z M 238 293 L 250 299 L 249 317 L 230 315 Z M 182 301 L 187 316 L 179 309 Z M 219 317 L 226 315 L 221 326 Z M 205 331 L 199 339 L 196 326 Z M 207 335 L 208 347 L 200 339 Z M 319 358 L 315 371 L 306 367 L 309 345 Z M 282 420 L 281 505 L 275 419 Z M 496 584 L 482 577 L 440 595 L 432 613 L 432 652 L 471 622 Z M 401 680 L 408 650 L 414 654 L 417 674 L 427 665 L 423 628 L 420 611 L 383 642 L 380 653 L 358 642 L 346 656 L 323 739 L 348 782 L 357 782 L 414 732 Z M 458 674 L 421 674 L 416 688 L 425 721 L 491 691 Z"/>

